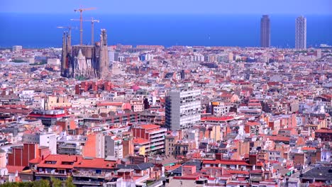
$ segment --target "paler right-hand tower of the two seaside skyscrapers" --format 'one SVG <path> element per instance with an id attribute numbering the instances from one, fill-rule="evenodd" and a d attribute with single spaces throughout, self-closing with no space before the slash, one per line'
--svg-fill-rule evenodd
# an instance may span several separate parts
<path id="1" fill-rule="evenodd" d="M 295 48 L 306 49 L 306 18 L 297 17 L 295 21 Z"/>

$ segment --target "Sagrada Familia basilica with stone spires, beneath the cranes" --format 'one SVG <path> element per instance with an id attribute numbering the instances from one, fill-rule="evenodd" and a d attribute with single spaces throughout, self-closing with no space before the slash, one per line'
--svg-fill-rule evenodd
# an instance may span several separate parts
<path id="1" fill-rule="evenodd" d="M 95 45 L 72 45 L 70 33 L 62 37 L 61 76 L 74 79 L 104 79 L 109 73 L 106 30 Z"/>

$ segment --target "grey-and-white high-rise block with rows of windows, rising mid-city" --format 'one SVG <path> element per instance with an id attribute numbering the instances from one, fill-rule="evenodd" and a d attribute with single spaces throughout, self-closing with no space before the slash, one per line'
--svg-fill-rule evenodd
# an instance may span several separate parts
<path id="1" fill-rule="evenodd" d="M 192 128 L 201 121 L 201 91 L 183 88 L 166 97 L 165 123 L 171 130 Z"/>

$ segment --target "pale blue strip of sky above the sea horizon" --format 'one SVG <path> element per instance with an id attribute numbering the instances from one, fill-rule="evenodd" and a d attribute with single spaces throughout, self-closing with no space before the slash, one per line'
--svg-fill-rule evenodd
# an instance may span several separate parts
<path id="1" fill-rule="evenodd" d="M 332 14 L 332 0 L 0 0 L 0 12 L 72 13 L 79 6 L 124 14 Z"/>

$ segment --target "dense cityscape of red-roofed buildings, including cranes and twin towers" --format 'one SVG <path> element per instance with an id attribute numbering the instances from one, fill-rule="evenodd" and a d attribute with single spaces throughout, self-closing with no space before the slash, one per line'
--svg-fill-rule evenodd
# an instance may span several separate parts
<path id="1" fill-rule="evenodd" d="M 332 46 L 0 49 L 0 186 L 332 186 Z M 99 32 L 95 38 L 93 32 Z M 88 33 L 84 33 L 87 34 Z M 40 182 L 40 183 L 38 183 Z"/>

